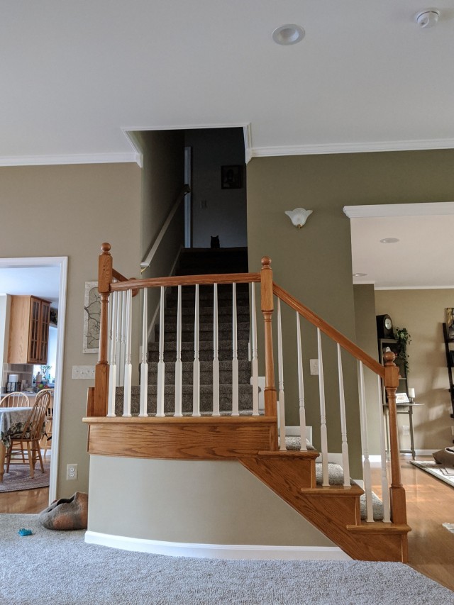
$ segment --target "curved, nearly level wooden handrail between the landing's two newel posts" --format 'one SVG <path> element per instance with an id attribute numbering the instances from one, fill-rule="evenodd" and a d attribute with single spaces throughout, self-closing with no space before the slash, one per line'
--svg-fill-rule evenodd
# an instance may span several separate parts
<path id="1" fill-rule="evenodd" d="M 123 290 L 158 288 L 161 286 L 200 286 L 210 284 L 250 284 L 260 282 L 260 273 L 216 273 L 210 275 L 174 275 L 173 277 L 150 277 L 148 279 L 129 279 L 126 282 L 110 284 L 109 292 Z"/>

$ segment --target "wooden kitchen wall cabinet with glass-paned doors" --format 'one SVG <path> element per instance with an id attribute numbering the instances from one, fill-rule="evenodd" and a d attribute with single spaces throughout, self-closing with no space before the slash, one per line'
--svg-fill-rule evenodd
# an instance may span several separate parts
<path id="1" fill-rule="evenodd" d="M 8 363 L 48 362 L 49 316 L 49 301 L 11 296 Z"/>

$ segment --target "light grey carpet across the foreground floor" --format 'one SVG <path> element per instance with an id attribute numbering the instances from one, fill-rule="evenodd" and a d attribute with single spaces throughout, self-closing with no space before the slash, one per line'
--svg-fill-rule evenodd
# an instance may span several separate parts
<path id="1" fill-rule="evenodd" d="M 454 592 L 403 563 L 133 553 L 86 544 L 83 530 L 47 530 L 36 515 L 0 515 L 0 545 L 8 605 L 454 604 Z"/>

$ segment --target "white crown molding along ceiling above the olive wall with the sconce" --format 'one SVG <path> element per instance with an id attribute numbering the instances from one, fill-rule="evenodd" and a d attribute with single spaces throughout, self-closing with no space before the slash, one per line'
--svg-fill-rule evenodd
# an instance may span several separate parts
<path id="1" fill-rule="evenodd" d="M 326 143 L 322 145 L 289 145 L 287 147 L 254 147 L 252 157 L 277 155 L 320 155 L 366 153 L 377 151 L 421 151 L 454 149 L 454 139 L 375 141 L 371 143 Z"/>

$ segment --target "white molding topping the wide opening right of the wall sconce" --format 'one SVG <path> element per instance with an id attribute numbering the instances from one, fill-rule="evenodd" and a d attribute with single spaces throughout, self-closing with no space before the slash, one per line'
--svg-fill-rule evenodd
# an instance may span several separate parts
<path id="1" fill-rule="evenodd" d="M 454 214 L 454 201 L 421 202 L 421 204 L 373 204 L 344 206 L 348 218 L 380 218 L 387 216 L 444 216 Z"/>

